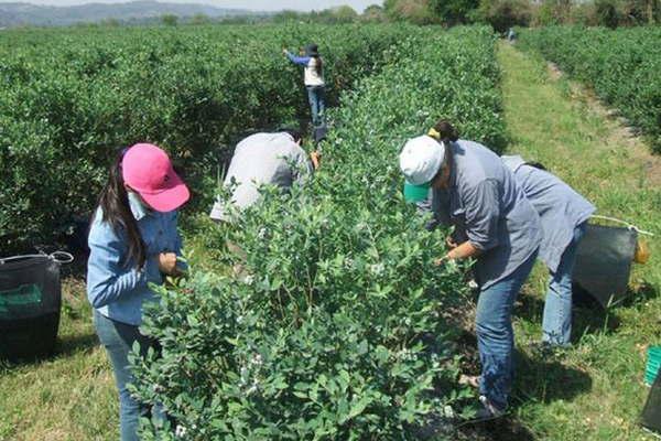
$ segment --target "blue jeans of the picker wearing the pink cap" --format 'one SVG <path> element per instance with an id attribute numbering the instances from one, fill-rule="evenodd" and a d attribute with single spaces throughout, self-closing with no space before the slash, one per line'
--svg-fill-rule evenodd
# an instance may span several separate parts
<path id="1" fill-rule="evenodd" d="M 138 326 L 110 320 L 94 310 L 94 325 L 99 341 L 106 347 L 115 383 L 119 390 L 119 426 L 121 441 L 138 441 L 138 424 L 140 417 L 149 416 L 150 408 L 141 406 L 131 397 L 127 385 L 133 380 L 129 368 L 129 352 L 133 342 L 140 344 L 140 353 L 147 355 L 149 347 L 156 347 L 153 340 L 140 334 Z M 154 419 L 163 419 L 163 415 L 154 409 Z"/>

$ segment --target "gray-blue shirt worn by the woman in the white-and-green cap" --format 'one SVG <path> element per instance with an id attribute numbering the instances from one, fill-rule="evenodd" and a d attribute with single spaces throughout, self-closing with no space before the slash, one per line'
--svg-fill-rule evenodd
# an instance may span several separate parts
<path id="1" fill-rule="evenodd" d="M 519 268 L 542 240 L 540 218 L 512 172 L 486 147 L 458 140 L 448 146 L 449 222 L 456 237 L 483 252 L 476 280 L 487 289 Z"/>

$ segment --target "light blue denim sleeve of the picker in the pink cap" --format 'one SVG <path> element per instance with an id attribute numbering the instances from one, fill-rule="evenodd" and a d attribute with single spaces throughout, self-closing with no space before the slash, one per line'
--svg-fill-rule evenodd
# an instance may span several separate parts
<path id="1" fill-rule="evenodd" d="M 95 222 L 88 243 L 87 299 L 94 308 L 105 306 L 137 287 L 147 286 L 147 269 L 138 271 L 122 265 L 127 247 L 110 225 Z"/>

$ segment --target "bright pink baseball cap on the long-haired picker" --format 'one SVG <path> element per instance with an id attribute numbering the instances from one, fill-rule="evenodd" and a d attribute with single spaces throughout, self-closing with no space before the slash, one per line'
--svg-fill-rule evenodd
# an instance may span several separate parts
<path id="1" fill-rule="evenodd" d="M 121 168 L 124 183 L 156 212 L 172 212 L 191 197 L 167 153 L 156 146 L 140 143 L 131 147 L 124 153 Z"/>

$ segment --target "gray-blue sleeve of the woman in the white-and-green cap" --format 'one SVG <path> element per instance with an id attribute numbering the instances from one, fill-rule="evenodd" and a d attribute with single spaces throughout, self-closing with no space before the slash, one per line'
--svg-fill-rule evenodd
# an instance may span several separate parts
<path id="1" fill-rule="evenodd" d="M 486 251 L 498 246 L 500 192 L 498 182 L 486 180 L 465 193 L 466 236 L 476 248 Z"/>

